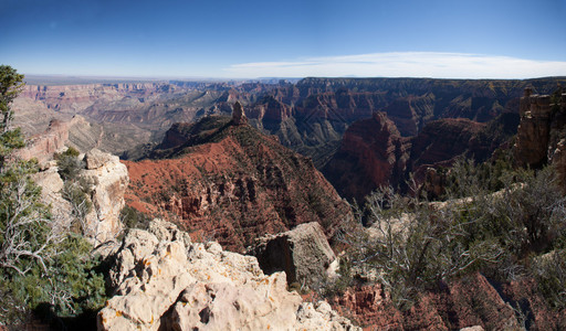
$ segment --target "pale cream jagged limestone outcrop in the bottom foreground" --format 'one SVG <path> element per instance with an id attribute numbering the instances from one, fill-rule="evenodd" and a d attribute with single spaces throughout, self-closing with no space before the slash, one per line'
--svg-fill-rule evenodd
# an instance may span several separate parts
<path id="1" fill-rule="evenodd" d="M 289 292 L 284 273 L 265 276 L 254 257 L 193 244 L 170 223 L 130 231 L 113 258 L 98 330 L 356 330 Z"/>

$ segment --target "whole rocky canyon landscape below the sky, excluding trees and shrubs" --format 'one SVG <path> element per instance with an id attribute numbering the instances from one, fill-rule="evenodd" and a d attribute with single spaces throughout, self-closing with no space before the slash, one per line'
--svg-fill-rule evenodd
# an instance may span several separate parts
<path id="1" fill-rule="evenodd" d="M 31 108 L 17 120 L 38 111 L 38 128 L 46 130 L 19 156 L 39 160 L 43 199 L 64 214 L 71 206 L 52 159 L 65 146 L 83 152 L 81 177 L 95 183 L 94 232 L 85 236 L 112 266 L 99 330 L 357 330 L 344 317 L 399 330 L 542 330 L 563 325 L 564 314 L 548 308 L 532 278 L 469 274 L 424 291 L 409 311 L 395 308 L 379 284 L 365 284 L 367 275 L 327 302 L 305 302 L 290 289 L 339 277 L 339 228 L 354 217 L 343 197 L 361 202 L 380 185 L 407 192 L 411 173 L 421 184 L 431 169 L 461 157 L 483 162 L 502 148 L 518 166 L 554 164 L 564 183 L 566 94 L 558 82 L 29 86 L 15 105 Z M 50 116 L 57 119 L 44 120 Z M 130 130 L 139 135 L 127 137 Z M 166 221 L 134 224 L 144 229 L 122 236 L 125 204 Z"/>

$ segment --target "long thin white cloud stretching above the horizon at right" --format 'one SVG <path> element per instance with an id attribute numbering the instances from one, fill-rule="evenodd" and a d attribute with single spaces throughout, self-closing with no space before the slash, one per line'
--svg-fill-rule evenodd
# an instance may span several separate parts
<path id="1" fill-rule="evenodd" d="M 242 63 L 224 71 L 241 77 L 533 78 L 566 76 L 566 62 L 462 53 L 399 52 Z"/>

